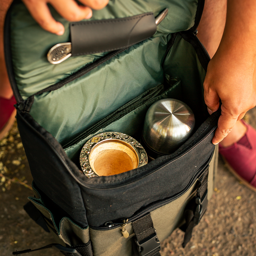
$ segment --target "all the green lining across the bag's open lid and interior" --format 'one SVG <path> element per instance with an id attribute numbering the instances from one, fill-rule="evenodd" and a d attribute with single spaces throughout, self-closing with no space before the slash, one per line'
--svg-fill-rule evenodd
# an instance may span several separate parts
<path id="1" fill-rule="evenodd" d="M 187 30 L 194 25 L 197 0 L 127 0 L 125 4 L 110 0 L 107 8 L 94 12 L 92 19 L 129 17 L 150 11 L 157 16 L 166 7 L 169 7 L 169 14 L 158 26 L 154 37 L 130 47 L 58 90 L 35 96 L 30 114 L 61 145 L 67 145 L 66 152 L 70 158 L 77 157 L 81 145 L 92 136 L 90 134 L 117 131 L 139 139 L 146 110 L 155 100 L 153 97 L 154 100 L 144 104 L 143 100 L 147 101 L 145 92 L 165 84 L 165 78 L 169 78 L 170 83 L 173 82 L 170 77 L 181 80 L 177 86 L 179 94 L 168 97 L 181 99 L 188 104 L 195 113 L 198 125 L 205 121 L 205 71 L 195 49 L 178 35 L 164 60 L 171 33 Z M 50 64 L 46 60 L 48 50 L 57 43 L 69 41 L 70 36 L 69 22 L 53 9 L 51 11 L 66 28 L 61 37 L 41 29 L 23 3 L 16 4 L 12 12 L 11 37 L 15 39 L 12 40 L 13 68 L 23 98 L 63 80 L 106 54 L 79 56 L 61 64 Z M 136 105 L 131 107 L 130 103 L 137 97 L 141 98 L 137 102 L 141 106 L 134 110 Z M 125 104 L 129 106 L 122 107 Z M 117 110 L 120 110 L 122 117 L 117 117 Z M 107 117 L 108 122 L 105 120 Z M 77 136 L 81 139 L 73 141 Z"/>

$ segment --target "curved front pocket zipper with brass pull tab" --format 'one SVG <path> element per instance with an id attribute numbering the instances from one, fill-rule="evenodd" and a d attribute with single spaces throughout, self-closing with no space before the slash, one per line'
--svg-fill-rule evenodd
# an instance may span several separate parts
<path id="1" fill-rule="evenodd" d="M 126 234 L 125 231 L 123 231 L 125 229 L 125 226 L 128 224 L 128 223 L 131 223 L 133 222 L 135 219 L 137 219 L 138 217 L 144 215 L 145 213 L 149 212 L 151 209 L 155 209 L 157 208 L 158 206 L 161 206 L 161 205 L 166 205 L 167 203 L 170 203 L 171 201 L 173 201 L 174 199 L 180 197 L 181 195 L 183 195 L 192 185 L 192 181 L 194 181 L 194 178 L 195 176 L 197 176 L 200 172 L 206 170 L 211 158 L 213 156 L 213 153 L 212 155 L 210 156 L 210 158 L 208 159 L 207 161 L 207 164 L 202 167 L 200 170 L 198 170 L 195 175 L 192 177 L 192 179 L 190 180 L 190 182 L 188 183 L 188 185 L 178 194 L 176 195 L 173 195 L 167 199 L 164 199 L 164 200 L 161 200 L 160 202 L 157 202 L 157 203 L 153 203 L 151 204 L 150 206 L 144 208 L 142 211 L 138 212 L 137 214 L 133 215 L 131 218 L 129 219 L 123 219 L 122 222 L 112 222 L 112 221 L 108 221 L 108 222 L 105 222 L 104 223 L 104 227 L 91 227 L 92 229 L 95 229 L 95 230 L 106 230 L 106 229 L 113 229 L 113 228 L 116 228 L 118 226 L 121 227 L 121 232 L 124 236 L 124 233 Z M 195 194 L 195 193 L 194 193 Z M 128 233 L 128 232 L 127 232 Z M 126 234 L 127 235 L 127 234 Z M 129 233 L 128 233 L 128 236 L 129 236 Z M 127 237 L 128 237 L 127 236 Z M 125 237 L 125 236 L 124 236 Z M 126 237 L 125 237 L 126 238 Z"/>

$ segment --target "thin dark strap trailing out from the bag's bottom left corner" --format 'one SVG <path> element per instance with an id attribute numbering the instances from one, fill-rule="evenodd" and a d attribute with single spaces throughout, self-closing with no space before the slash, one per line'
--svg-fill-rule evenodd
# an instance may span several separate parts
<path id="1" fill-rule="evenodd" d="M 46 246 L 43 246 L 41 248 L 37 248 L 34 250 L 26 249 L 23 251 L 12 252 L 12 255 L 35 252 L 35 251 L 39 251 L 39 250 L 43 250 L 51 247 L 57 249 L 65 256 L 93 256 L 91 241 L 89 241 L 87 244 L 74 245 L 71 247 L 65 247 L 61 244 L 48 244 Z"/>

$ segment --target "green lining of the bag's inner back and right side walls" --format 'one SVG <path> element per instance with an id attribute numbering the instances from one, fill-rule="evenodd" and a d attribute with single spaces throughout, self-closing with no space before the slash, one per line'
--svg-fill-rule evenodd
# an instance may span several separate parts
<path id="1" fill-rule="evenodd" d="M 146 90 L 163 84 L 165 73 L 181 79 L 183 101 L 194 111 L 196 122 L 204 122 L 205 71 L 195 49 L 178 35 L 162 63 L 166 45 L 166 36 L 141 42 L 60 89 L 36 96 L 31 115 L 64 146 Z"/>

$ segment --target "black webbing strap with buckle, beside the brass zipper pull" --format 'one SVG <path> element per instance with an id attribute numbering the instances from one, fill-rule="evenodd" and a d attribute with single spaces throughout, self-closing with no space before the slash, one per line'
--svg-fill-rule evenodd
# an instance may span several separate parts
<path id="1" fill-rule="evenodd" d="M 161 256 L 160 241 L 150 213 L 133 222 L 135 243 L 140 256 Z"/>

